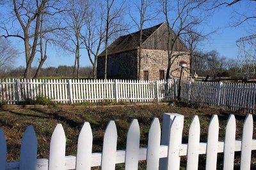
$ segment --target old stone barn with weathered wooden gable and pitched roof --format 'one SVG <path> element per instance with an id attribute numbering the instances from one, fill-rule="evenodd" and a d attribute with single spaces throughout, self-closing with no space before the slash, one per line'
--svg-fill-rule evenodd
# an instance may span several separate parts
<path id="1" fill-rule="evenodd" d="M 175 36 L 176 34 L 173 32 L 172 38 Z M 140 80 L 164 79 L 168 67 L 167 41 L 168 25 L 165 22 L 143 29 L 141 71 L 139 71 L 140 32 L 120 36 L 109 45 L 107 78 L 138 80 L 140 76 Z M 172 43 L 170 43 L 171 45 Z M 189 68 L 189 50 L 179 38 L 174 44 L 174 49 L 173 55 L 178 57 L 172 60 L 170 77 L 179 78 L 179 61 L 186 61 Z M 99 79 L 104 78 L 104 66 L 105 51 L 100 53 L 97 60 L 97 78 Z M 189 69 L 184 69 L 183 78 L 188 78 L 188 76 Z"/>

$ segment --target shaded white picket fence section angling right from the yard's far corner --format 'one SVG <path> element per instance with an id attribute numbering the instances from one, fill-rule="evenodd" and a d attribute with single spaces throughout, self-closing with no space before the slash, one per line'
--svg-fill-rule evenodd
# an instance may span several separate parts
<path id="1" fill-rule="evenodd" d="M 230 110 L 256 110 L 255 83 L 182 81 L 184 102 L 208 104 Z"/>

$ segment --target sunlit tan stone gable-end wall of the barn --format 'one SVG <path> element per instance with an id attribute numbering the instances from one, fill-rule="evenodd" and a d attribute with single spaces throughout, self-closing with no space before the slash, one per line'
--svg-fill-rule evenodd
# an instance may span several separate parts
<path id="1" fill-rule="evenodd" d="M 184 52 L 173 52 L 174 55 Z M 166 71 L 168 67 L 168 53 L 164 50 L 148 50 L 143 49 L 141 55 L 141 72 L 140 79 L 143 80 L 143 71 L 148 71 L 149 80 L 159 80 L 159 71 L 164 70 L 164 78 L 166 77 Z M 185 60 L 188 62 L 189 67 L 189 54 L 180 55 L 172 64 L 171 67 L 171 78 L 179 78 L 180 66 L 179 61 Z M 188 71 L 188 72 L 187 72 Z M 188 78 L 189 70 L 183 71 L 182 78 Z"/>

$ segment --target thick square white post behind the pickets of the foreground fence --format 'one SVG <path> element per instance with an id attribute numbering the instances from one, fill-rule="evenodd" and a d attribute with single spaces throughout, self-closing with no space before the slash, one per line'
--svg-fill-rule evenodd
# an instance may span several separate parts
<path id="1" fill-rule="evenodd" d="M 162 131 L 162 138 L 161 138 L 161 145 L 169 145 L 170 141 L 170 129 L 172 126 L 172 122 L 175 117 L 180 117 L 180 124 L 183 128 L 184 125 L 184 116 L 177 114 L 177 113 L 163 113 L 163 131 Z M 182 131 L 181 131 L 182 132 Z M 182 136 L 182 134 L 180 134 Z M 180 138 L 180 143 L 182 142 L 182 138 Z M 179 162 L 177 162 L 178 164 Z M 168 157 L 161 158 L 159 162 L 159 169 L 166 170 L 168 166 Z"/>

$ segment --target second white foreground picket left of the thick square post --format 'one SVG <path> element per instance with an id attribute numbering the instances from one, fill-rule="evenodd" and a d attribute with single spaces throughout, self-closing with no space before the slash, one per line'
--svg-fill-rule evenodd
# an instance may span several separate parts
<path id="1" fill-rule="evenodd" d="M 138 169 L 140 152 L 140 126 L 137 119 L 132 120 L 127 133 L 125 170 Z"/>

